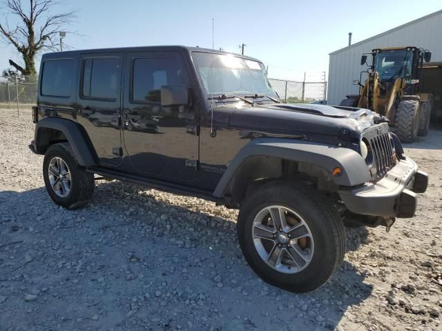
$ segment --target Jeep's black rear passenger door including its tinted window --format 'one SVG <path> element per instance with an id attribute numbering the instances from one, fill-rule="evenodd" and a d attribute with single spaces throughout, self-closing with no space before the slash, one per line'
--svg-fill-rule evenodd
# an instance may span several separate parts
<path id="1" fill-rule="evenodd" d="M 80 58 L 78 117 L 93 143 L 99 164 L 121 162 L 121 85 L 123 54 L 82 54 Z"/>

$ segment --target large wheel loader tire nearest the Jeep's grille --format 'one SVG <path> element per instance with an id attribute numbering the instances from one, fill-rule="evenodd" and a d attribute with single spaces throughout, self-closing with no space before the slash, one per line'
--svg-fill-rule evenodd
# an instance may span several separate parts
<path id="1" fill-rule="evenodd" d="M 419 131 L 419 101 L 402 100 L 396 110 L 396 134 L 403 143 L 416 140 Z"/>

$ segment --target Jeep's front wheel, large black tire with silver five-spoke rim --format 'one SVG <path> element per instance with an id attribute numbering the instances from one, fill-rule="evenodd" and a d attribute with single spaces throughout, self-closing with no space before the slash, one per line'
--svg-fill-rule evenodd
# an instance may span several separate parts
<path id="1" fill-rule="evenodd" d="M 242 204 L 238 241 L 260 278 L 291 292 L 309 292 L 336 272 L 345 228 L 334 206 L 311 188 L 276 181 Z"/>

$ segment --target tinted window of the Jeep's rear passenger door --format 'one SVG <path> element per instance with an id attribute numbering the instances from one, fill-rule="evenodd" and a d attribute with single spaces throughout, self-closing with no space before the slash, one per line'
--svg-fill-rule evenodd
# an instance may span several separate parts
<path id="1" fill-rule="evenodd" d="M 81 97 L 115 101 L 118 93 L 118 58 L 85 59 Z"/>

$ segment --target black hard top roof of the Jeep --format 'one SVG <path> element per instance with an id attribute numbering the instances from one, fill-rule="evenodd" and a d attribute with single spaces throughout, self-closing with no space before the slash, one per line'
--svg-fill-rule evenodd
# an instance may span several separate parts
<path id="1" fill-rule="evenodd" d="M 209 48 L 200 47 L 189 47 L 189 46 L 138 46 L 138 47 L 120 47 L 120 48 L 95 48 L 91 50 L 68 50 L 64 52 L 51 52 L 43 54 L 43 58 L 50 57 L 51 59 L 59 57 L 73 56 L 73 54 L 84 54 L 84 53 L 97 53 L 97 52 L 142 52 L 142 51 L 152 51 L 152 50 L 178 50 L 185 52 L 208 52 L 211 53 L 212 50 Z M 225 52 L 224 50 L 213 50 L 215 54 L 231 54 L 236 57 L 243 57 L 244 59 L 250 59 L 253 61 L 261 62 L 253 57 L 247 57 L 245 55 L 236 54 L 232 52 Z"/>

